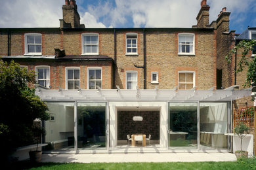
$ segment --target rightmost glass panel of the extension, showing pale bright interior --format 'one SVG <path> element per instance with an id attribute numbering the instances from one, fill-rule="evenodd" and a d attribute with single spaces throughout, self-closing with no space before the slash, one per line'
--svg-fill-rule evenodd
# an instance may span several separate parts
<path id="1" fill-rule="evenodd" d="M 227 103 L 200 103 L 200 148 L 228 149 Z"/>

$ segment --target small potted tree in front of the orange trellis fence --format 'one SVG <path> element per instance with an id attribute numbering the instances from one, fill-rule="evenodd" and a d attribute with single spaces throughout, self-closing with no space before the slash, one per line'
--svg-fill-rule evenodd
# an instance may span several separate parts
<path id="1" fill-rule="evenodd" d="M 247 158 L 248 156 L 248 152 L 245 150 L 242 150 L 243 139 L 246 136 L 245 133 L 248 133 L 248 131 L 249 131 L 249 127 L 243 124 L 242 122 L 240 122 L 236 127 L 234 127 L 234 132 L 236 133 L 236 135 L 238 135 L 241 141 L 240 143 L 241 150 L 236 150 L 235 152 L 236 158 Z"/>

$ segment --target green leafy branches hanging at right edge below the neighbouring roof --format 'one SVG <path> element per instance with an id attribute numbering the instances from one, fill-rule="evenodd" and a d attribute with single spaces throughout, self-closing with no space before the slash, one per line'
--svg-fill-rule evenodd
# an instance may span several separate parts
<path id="1" fill-rule="evenodd" d="M 242 40 L 240 41 L 232 50 L 230 53 L 226 56 L 226 60 L 231 63 L 232 60 L 232 54 L 236 54 L 238 50 L 242 50 L 242 56 L 240 60 L 238 61 L 238 69 L 236 70 L 236 73 L 242 72 L 244 70 L 244 67 L 247 67 L 247 77 L 245 79 L 244 86 L 250 86 L 252 82 L 256 82 L 256 58 L 250 59 L 247 57 L 247 54 L 252 51 L 256 50 L 256 40 Z"/>

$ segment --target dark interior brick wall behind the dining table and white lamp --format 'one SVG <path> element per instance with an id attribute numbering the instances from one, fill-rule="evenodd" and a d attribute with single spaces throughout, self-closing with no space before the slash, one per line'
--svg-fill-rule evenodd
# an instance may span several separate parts
<path id="1" fill-rule="evenodd" d="M 142 116 L 142 121 L 133 121 L 133 116 Z M 160 139 L 159 111 L 119 111 L 117 112 L 117 139 L 127 139 L 127 134 L 151 134 L 151 139 Z"/>

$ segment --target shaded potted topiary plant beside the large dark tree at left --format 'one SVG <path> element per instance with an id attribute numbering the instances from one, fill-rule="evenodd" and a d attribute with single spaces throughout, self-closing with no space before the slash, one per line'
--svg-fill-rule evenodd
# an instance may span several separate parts
<path id="1" fill-rule="evenodd" d="M 35 163 L 35 162 L 41 161 L 42 151 L 38 150 L 38 143 L 41 139 L 41 136 L 45 135 L 45 129 L 41 126 L 33 126 L 32 131 L 35 137 L 35 141 L 37 143 L 37 148 L 36 150 L 30 151 L 29 154 L 30 154 L 30 161 Z"/>

